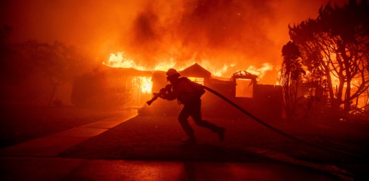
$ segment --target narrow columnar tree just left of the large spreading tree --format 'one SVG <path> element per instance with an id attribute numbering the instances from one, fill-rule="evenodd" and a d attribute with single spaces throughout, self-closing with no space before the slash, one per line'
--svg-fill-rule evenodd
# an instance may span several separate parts
<path id="1" fill-rule="evenodd" d="M 294 42 L 288 42 L 282 47 L 282 67 L 278 78 L 282 85 L 283 105 L 287 119 L 294 116 L 294 108 L 297 100 L 298 84 L 301 82 L 301 74 L 305 73 L 300 60 L 300 51 Z"/>

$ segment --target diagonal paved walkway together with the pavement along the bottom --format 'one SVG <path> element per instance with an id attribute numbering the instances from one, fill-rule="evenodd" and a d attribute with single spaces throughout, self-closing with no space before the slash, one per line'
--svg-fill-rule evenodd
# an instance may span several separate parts
<path id="1" fill-rule="evenodd" d="M 264 151 L 260 154 L 280 162 L 162 162 L 56 157 L 67 148 L 135 116 L 136 112 L 127 111 L 118 117 L 3 148 L 0 150 L 0 180 L 350 180 L 331 174 L 324 166 L 297 162 Z"/>

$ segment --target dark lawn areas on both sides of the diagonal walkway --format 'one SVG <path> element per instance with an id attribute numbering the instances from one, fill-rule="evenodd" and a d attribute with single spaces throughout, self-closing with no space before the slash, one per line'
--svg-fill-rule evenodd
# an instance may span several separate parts
<path id="1" fill-rule="evenodd" d="M 76 107 L 16 106 L 6 110 L 1 118 L 0 139 L 3 147 L 118 114 Z M 222 143 L 219 143 L 215 133 L 195 126 L 190 120 L 199 144 L 183 146 L 180 140 L 186 135 L 177 117 L 138 116 L 65 150 L 58 157 L 268 163 L 287 159 L 296 164 L 331 166 L 331 172 L 341 175 L 366 175 L 369 169 L 368 121 L 269 123 L 300 139 L 332 148 L 326 150 L 282 136 L 252 119 L 206 119 L 226 128 Z"/>

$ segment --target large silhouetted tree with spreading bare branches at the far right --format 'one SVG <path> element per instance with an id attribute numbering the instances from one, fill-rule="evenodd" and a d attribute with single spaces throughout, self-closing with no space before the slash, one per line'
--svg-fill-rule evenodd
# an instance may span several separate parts
<path id="1" fill-rule="evenodd" d="M 316 19 L 289 26 L 289 35 L 299 46 L 310 77 L 327 83 L 332 110 L 343 104 L 350 112 L 369 87 L 368 1 L 350 0 L 342 7 L 328 3 L 318 12 Z"/>

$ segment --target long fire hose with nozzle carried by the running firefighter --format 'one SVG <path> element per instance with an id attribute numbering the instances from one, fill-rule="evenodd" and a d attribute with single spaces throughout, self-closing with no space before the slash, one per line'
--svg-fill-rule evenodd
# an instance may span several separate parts
<path id="1" fill-rule="evenodd" d="M 295 141 L 301 142 L 301 143 L 303 143 L 305 145 L 308 145 L 308 146 L 313 146 L 313 147 L 316 147 L 316 148 L 321 148 L 323 150 L 328 150 L 328 151 L 332 151 L 332 152 L 335 152 L 335 153 L 341 153 L 343 155 L 350 155 L 350 156 L 354 156 L 354 157 L 361 157 L 361 158 L 369 159 L 369 157 L 366 157 L 366 156 L 363 156 L 363 155 L 357 155 L 357 154 L 354 154 L 354 153 L 348 153 L 348 152 L 345 152 L 343 150 L 337 150 L 337 149 L 326 147 L 326 146 L 322 146 L 322 145 L 319 145 L 319 144 L 314 144 L 313 142 L 310 142 L 310 141 L 307 141 L 307 140 L 304 140 L 304 139 L 300 139 L 298 137 L 295 137 L 294 135 L 290 135 L 287 132 L 283 132 L 282 130 L 279 130 L 278 128 L 274 128 L 273 126 L 269 125 L 268 123 L 265 123 L 264 121 L 262 121 L 258 117 L 255 117 L 253 114 L 251 114 L 250 112 L 247 112 L 242 107 L 240 107 L 240 105 L 237 105 L 233 101 L 231 101 L 228 98 L 226 98 L 226 96 L 223 96 L 219 92 L 216 92 L 214 89 L 210 89 L 209 87 L 206 87 L 205 85 L 203 85 L 203 87 L 208 92 L 211 92 L 211 93 L 215 94 L 216 96 L 218 96 L 219 98 L 222 98 L 224 101 L 226 101 L 227 103 L 229 103 L 230 105 L 232 105 L 233 107 L 235 107 L 237 110 L 240 110 L 242 113 L 246 114 L 251 119 L 257 121 L 260 124 L 262 124 L 262 126 L 265 126 L 265 127 L 269 128 L 269 129 L 277 132 L 280 135 L 283 135 L 285 137 L 288 137 L 289 139 L 293 139 Z M 150 101 L 147 101 L 147 104 L 148 105 L 151 105 L 152 102 L 154 102 L 157 98 L 159 98 L 162 94 L 164 94 L 165 93 L 164 92 L 164 89 L 165 88 L 161 89 L 161 91 L 159 93 L 154 93 L 154 97 Z"/>

